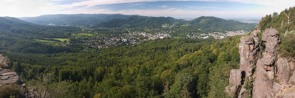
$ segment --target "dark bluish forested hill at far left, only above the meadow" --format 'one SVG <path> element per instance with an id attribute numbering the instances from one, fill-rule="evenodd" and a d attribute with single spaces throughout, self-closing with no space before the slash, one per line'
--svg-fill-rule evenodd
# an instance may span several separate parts
<path id="1" fill-rule="evenodd" d="M 41 26 L 14 17 L 0 17 L 0 32 L 5 35 L 62 38 L 77 30 L 75 27 Z"/>

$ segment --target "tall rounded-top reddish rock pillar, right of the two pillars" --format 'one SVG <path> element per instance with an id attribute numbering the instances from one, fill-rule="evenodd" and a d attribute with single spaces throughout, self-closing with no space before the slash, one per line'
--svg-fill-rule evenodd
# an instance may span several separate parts
<path id="1" fill-rule="evenodd" d="M 265 45 L 265 52 L 262 58 L 258 59 L 255 70 L 255 81 L 253 82 L 254 98 L 273 98 L 273 78 L 276 71 L 276 58 L 280 43 L 279 32 L 274 29 L 266 29 L 262 33 L 262 41 Z"/>

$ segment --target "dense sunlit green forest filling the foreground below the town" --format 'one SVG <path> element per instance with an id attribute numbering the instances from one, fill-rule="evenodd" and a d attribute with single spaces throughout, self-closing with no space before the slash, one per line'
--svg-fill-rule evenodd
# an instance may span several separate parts
<path id="1" fill-rule="evenodd" d="M 68 80 L 73 97 L 226 97 L 230 69 L 239 67 L 239 38 L 152 40 L 91 53 L 0 53 L 27 83 L 48 72 Z"/>

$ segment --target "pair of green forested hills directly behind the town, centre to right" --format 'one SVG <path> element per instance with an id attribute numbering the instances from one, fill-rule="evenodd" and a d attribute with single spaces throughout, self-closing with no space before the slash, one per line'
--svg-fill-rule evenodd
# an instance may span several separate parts
<path id="1" fill-rule="evenodd" d="M 186 21 L 183 19 L 174 19 L 172 17 L 144 17 L 131 16 L 126 19 L 112 19 L 107 22 L 94 25 L 91 28 L 99 27 L 148 27 L 162 28 L 162 25 L 170 25 L 175 28 L 188 27 L 191 30 L 197 31 L 200 29 L 203 32 L 225 32 L 246 30 L 251 31 L 257 25 L 256 23 L 243 23 L 234 20 L 225 20 L 217 17 L 199 17 L 194 20 Z"/>

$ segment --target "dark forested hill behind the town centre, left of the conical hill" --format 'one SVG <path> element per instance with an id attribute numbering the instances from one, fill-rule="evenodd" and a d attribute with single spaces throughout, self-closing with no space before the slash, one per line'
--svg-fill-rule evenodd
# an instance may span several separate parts
<path id="1" fill-rule="evenodd" d="M 92 28 L 98 27 L 161 27 L 163 24 L 184 21 L 183 19 L 174 19 L 172 17 L 145 17 L 145 16 L 131 16 L 126 19 L 112 19 L 107 22 L 94 25 Z"/>

